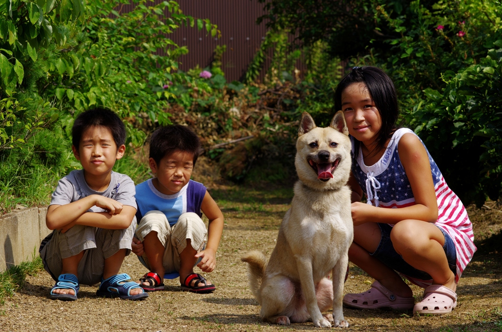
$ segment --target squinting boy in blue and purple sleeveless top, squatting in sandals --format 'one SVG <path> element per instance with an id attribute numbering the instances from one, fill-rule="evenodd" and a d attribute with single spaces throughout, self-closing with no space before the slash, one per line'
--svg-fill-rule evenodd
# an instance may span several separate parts
<path id="1" fill-rule="evenodd" d="M 201 151 L 199 137 L 186 126 L 157 129 L 150 139 L 149 165 L 155 178 L 136 186 L 139 225 L 133 252 L 150 272 L 140 278 L 147 291 L 163 290 L 166 272 L 180 274 L 181 288 L 195 293 L 215 290 L 194 273 L 212 272 L 223 231 L 223 214 L 204 185 L 190 180 Z M 206 230 L 202 213 L 209 219 Z"/>

